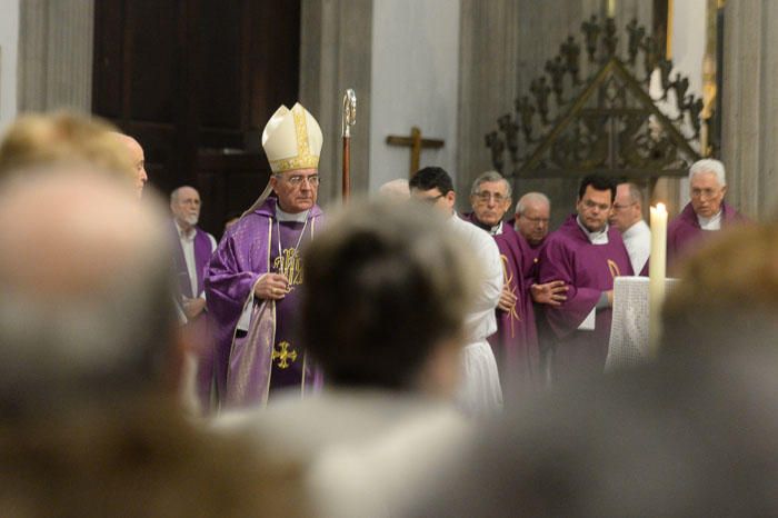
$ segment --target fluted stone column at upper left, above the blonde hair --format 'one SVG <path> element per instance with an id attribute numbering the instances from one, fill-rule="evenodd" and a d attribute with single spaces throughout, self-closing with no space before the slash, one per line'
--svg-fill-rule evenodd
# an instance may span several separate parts
<path id="1" fill-rule="evenodd" d="M 19 111 L 91 112 L 94 0 L 24 0 L 19 18 Z"/>

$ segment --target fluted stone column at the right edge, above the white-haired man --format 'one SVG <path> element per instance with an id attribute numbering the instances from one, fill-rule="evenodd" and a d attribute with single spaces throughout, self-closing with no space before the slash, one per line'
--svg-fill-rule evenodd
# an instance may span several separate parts
<path id="1" fill-rule="evenodd" d="M 724 22 L 721 158 L 727 200 L 772 216 L 778 193 L 778 3 L 728 0 Z"/>

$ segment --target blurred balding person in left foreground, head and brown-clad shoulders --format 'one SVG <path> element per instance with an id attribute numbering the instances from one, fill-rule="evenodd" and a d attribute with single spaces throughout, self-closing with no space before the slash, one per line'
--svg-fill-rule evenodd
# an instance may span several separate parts
<path id="1" fill-rule="evenodd" d="M 102 170 L 0 181 L 0 516 L 296 516 L 295 468 L 200 432 L 166 383 L 166 220 Z"/>

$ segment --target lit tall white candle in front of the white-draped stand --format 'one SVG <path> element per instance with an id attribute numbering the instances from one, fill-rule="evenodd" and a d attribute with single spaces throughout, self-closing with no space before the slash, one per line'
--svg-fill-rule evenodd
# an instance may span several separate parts
<path id="1" fill-rule="evenodd" d="M 656 357 L 661 336 L 661 305 L 665 300 L 667 271 L 667 209 L 665 203 L 651 207 L 651 256 L 648 259 L 648 338 Z"/>

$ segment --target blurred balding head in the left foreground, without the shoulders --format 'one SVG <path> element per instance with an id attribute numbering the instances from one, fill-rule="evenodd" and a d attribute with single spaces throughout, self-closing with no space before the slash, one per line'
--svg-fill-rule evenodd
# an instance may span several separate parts
<path id="1" fill-rule="evenodd" d="M 53 408 L 161 382 L 176 320 L 166 217 L 153 198 L 72 168 L 0 183 L 2 405 Z M 62 200 L 64 210 L 41 217 L 41 206 Z"/>

